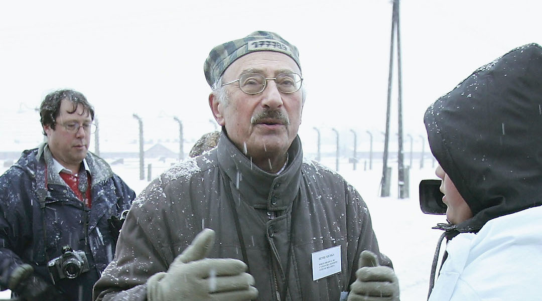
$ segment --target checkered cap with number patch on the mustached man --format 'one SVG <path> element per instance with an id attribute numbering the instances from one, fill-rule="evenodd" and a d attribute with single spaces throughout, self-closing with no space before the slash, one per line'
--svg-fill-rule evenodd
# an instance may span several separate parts
<path id="1" fill-rule="evenodd" d="M 203 71 L 209 86 L 212 87 L 237 58 L 254 51 L 277 51 L 283 53 L 291 57 L 301 70 L 298 48 L 288 43 L 288 41 L 284 40 L 278 34 L 275 34 L 275 32 L 254 31 L 244 38 L 226 42 L 211 50 L 203 65 Z"/>

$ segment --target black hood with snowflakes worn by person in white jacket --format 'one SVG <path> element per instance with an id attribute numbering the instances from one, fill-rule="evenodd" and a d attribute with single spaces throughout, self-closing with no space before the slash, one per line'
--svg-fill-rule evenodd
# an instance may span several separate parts
<path id="1" fill-rule="evenodd" d="M 480 67 L 424 116 L 431 152 L 474 217 L 458 230 L 542 205 L 542 48 Z"/>

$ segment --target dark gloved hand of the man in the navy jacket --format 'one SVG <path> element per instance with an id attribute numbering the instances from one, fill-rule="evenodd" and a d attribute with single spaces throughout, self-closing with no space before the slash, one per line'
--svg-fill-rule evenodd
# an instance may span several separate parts
<path id="1" fill-rule="evenodd" d="M 13 270 L 8 286 L 10 290 L 21 297 L 19 300 L 65 300 L 53 284 L 34 274 L 34 268 L 29 264 L 22 264 Z"/>

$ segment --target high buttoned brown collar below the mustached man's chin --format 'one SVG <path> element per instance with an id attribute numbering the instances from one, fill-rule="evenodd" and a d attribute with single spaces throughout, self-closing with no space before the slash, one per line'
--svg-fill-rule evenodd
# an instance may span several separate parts
<path id="1" fill-rule="evenodd" d="M 286 210 L 299 191 L 303 151 L 296 136 L 288 149 L 289 163 L 280 174 L 257 167 L 228 138 L 224 131 L 217 146 L 218 166 L 242 198 L 254 208 Z"/>

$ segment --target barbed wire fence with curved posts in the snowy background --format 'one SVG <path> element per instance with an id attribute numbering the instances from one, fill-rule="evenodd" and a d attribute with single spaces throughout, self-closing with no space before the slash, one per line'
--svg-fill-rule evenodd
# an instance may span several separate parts
<path id="1" fill-rule="evenodd" d="M 142 133 L 134 114 L 141 119 Z M 98 130 L 91 137 L 89 150 L 106 159 L 114 170 L 115 165 L 122 164 L 126 176 L 134 181 L 150 181 L 172 164 L 188 158 L 190 149 L 203 134 L 220 130 L 216 121 L 208 116 L 182 120 L 164 112 L 154 115 L 127 110 L 96 113 L 95 123 Z M 143 154 L 140 153 L 141 134 Z M 382 168 L 382 131 L 302 124 L 299 136 L 306 158 L 335 171 L 375 172 Z M 404 142 L 406 165 L 409 168 L 433 168 L 435 161 L 425 148 L 426 136 L 416 133 L 407 136 L 410 139 Z M 0 120 L 0 137 L 3 141 L 0 143 L 3 165 L 0 171 L 3 172 L 23 150 L 35 148 L 44 141 L 37 110 L 21 106 L 15 112 L 8 112 Z M 391 143 L 389 160 L 397 162 L 397 144 Z"/>

